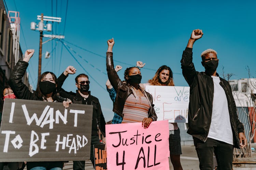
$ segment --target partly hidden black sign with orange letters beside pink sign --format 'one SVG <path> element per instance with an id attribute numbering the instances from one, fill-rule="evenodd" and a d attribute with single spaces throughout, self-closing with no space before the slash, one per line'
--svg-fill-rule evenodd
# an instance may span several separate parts
<path id="1" fill-rule="evenodd" d="M 107 170 L 107 158 L 106 158 L 106 151 L 105 145 L 99 144 L 99 145 L 94 145 L 94 165 L 95 165 L 95 170 Z"/>

